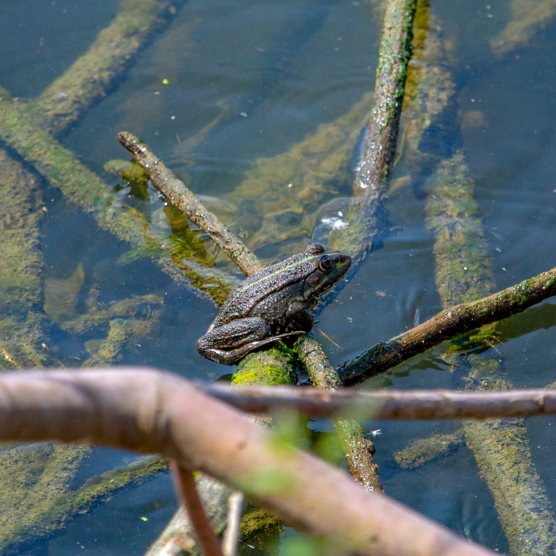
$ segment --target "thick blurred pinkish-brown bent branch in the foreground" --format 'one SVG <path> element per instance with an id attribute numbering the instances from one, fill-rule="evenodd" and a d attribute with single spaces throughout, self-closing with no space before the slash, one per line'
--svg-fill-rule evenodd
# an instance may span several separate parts
<path id="1" fill-rule="evenodd" d="M 324 537 L 336 552 L 493 556 L 271 438 L 247 415 L 166 373 L 79 369 L 0 375 L 0 440 L 86 441 L 160 453 L 241 489 L 285 523 Z"/>

